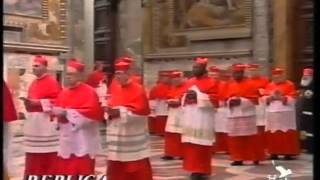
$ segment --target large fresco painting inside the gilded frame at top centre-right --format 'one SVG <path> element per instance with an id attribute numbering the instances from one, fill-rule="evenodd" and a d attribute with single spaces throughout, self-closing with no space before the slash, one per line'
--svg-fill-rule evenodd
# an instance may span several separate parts
<path id="1" fill-rule="evenodd" d="M 178 30 L 217 29 L 243 26 L 247 0 L 175 0 Z"/>

